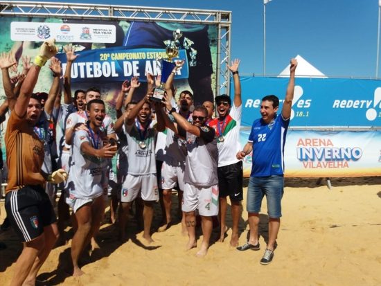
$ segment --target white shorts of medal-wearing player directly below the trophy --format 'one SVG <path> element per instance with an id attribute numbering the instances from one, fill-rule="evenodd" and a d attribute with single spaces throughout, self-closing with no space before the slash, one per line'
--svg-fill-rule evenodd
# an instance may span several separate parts
<path id="1" fill-rule="evenodd" d="M 156 174 L 127 175 L 121 190 L 121 202 L 132 202 L 138 197 L 139 193 L 143 201 L 159 201 Z"/>

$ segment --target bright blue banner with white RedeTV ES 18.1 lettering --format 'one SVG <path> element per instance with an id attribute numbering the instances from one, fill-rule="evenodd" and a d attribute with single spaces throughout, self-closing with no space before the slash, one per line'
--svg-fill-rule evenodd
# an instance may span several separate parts
<path id="1" fill-rule="evenodd" d="M 282 102 L 288 78 L 241 77 L 242 125 L 260 116 L 261 99 L 275 94 Z M 381 81 L 336 78 L 296 78 L 292 127 L 381 126 Z"/>

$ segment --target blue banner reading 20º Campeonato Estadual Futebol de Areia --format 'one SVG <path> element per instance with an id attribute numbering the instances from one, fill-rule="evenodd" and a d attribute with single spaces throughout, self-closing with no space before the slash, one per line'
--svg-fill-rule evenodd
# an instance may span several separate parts
<path id="1" fill-rule="evenodd" d="M 100 48 L 76 52 L 78 57 L 71 67 L 71 82 L 123 82 L 126 78 L 139 77 L 145 81 L 145 74 L 158 75 L 161 64 L 158 58 L 166 58 L 166 50 L 161 48 L 127 49 L 123 46 Z M 66 55 L 60 53 L 57 58 L 66 66 Z M 185 50 L 179 50 L 179 57 L 173 60 L 185 60 L 184 66 L 175 80 L 188 78 L 188 58 Z"/>

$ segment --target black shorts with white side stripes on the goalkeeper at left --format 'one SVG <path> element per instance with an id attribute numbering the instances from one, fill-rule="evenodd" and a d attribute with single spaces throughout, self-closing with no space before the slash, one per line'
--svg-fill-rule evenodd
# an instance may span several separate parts
<path id="1" fill-rule="evenodd" d="M 22 242 L 34 240 L 44 227 L 57 222 L 53 206 L 42 186 L 25 186 L 6 194 L 10 224 Z"/>

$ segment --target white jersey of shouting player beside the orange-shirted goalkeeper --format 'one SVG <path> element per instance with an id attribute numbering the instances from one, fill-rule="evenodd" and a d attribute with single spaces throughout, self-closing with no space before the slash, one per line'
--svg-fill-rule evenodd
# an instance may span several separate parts
<path id="1" fill-rule="evenodd" d="M 73 134 L 69 179 L 65 190 L 72 198 L 93 199 L 102 195 L 104 188 L 107 188 L 108 160 L 83 154 L 81 145 L 85 142 L 89 142 L 93 148 L 102 148 L 100 134 L 91 135 L 84 130 Z"/>

